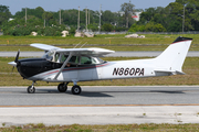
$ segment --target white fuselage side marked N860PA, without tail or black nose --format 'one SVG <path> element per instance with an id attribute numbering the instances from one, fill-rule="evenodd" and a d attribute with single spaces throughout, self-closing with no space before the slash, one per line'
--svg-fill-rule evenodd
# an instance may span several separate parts
<path id="1" fill-rule="evenodd" d="M 54 79 L 59 69 L 53 69 L 29 79 L 43 81 L 87 81 L 101 79 L 122 79 L 153 76 L 168 76 L 167 73 L 156 73 L 154 59 L 107 62 L 98 65 L 85 65 L 84 67 L 66 67 Z"/>

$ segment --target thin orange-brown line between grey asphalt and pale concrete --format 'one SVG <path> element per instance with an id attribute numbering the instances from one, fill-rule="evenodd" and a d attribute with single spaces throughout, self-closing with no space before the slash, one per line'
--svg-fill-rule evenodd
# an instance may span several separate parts
<path id="1" fill-rule="evenodd" d="M 0 108 L 14 107 L 161 107 L 161 106 L 199 106 L 199 103 L 177 103 L 177 105 L 54 105 L 54 106 L 0 106 Z"/>

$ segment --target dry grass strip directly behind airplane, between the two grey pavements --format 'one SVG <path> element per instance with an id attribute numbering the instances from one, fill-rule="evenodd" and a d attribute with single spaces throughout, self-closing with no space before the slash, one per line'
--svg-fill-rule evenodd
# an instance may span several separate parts
<path id="1" fill-rule="evenodd" d="M 0 57 L 0 86 L 29 86 L 30 80 L 22 79 L 14 68 L 11 74 L 12 66 L 8 65 L 14 57 Z M 136 57 L 105 57 L 105 61 L 119 61 L 119 59 L 140 59 Z M 187 57 L 184 72 L 187 75 L 167 76 L 167 77 L 153 77 L 153 78 L 133 78 L 133 79 L 116 79 L 116 80 L 100 80 L 100 81 L 85 81 L 78 82 L 81 86 L 154 86 L 154 85 L 199 85 L 199 57 Z M 38 81 L 38 86 L 56 86 L 56 82 Z M 70 84 L 73 85 L 73 84 Z M 35 86 L 36 87 L 36 86 Z"/>

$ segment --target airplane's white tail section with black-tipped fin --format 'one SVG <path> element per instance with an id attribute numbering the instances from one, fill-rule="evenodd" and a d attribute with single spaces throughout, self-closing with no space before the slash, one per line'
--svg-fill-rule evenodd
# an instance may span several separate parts
<path id="1" fill-rule="evenodd" d="M 154 58 L 156 72 L 184 74 L 181 67 L 189 51 L 192 38 L 179 36 L 159 56 Z"/>

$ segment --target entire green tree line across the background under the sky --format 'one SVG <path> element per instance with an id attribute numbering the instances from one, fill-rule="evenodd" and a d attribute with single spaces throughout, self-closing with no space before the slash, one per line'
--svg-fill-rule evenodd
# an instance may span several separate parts
<path id="1" fill-rule="evenodd" d="M 27 22 L 25 22 L 27 10 Z M 135 6 L 129 1 L 121 6 L 119 12 L 102 11 L 101 31 L 129 32 L 181 32 L 199 31 L 199 1 L 176 0 L 167 7 L 145 9 L 140 20 L 132 19 Z M 140 11 L 140 10 L 139 10 Z M 61 24 L 60 24 L 61 12 Z M 80 11 L 80 30 L 86 29 L 86 9 Z M 87 11 L 87 29 L 100 30 L 100 11 Z M 185 14 L 185 15 L 184 15 Z M 12 21 L 9 21 L 13 18 Z M 35 9 L 23 8 L 12 15 L 9 7 L 0 6 L 0 30 L 4 35 L 30 35 L 32 31 L 39 35 L 56 36 L 61 31 L 70 30 L 74 34 L 77 29 L 78 10 L 61 10 L 57 12 L 44 11 L 42 7 Z M 185 21 L 184 21 L 185 20 Z"/>

